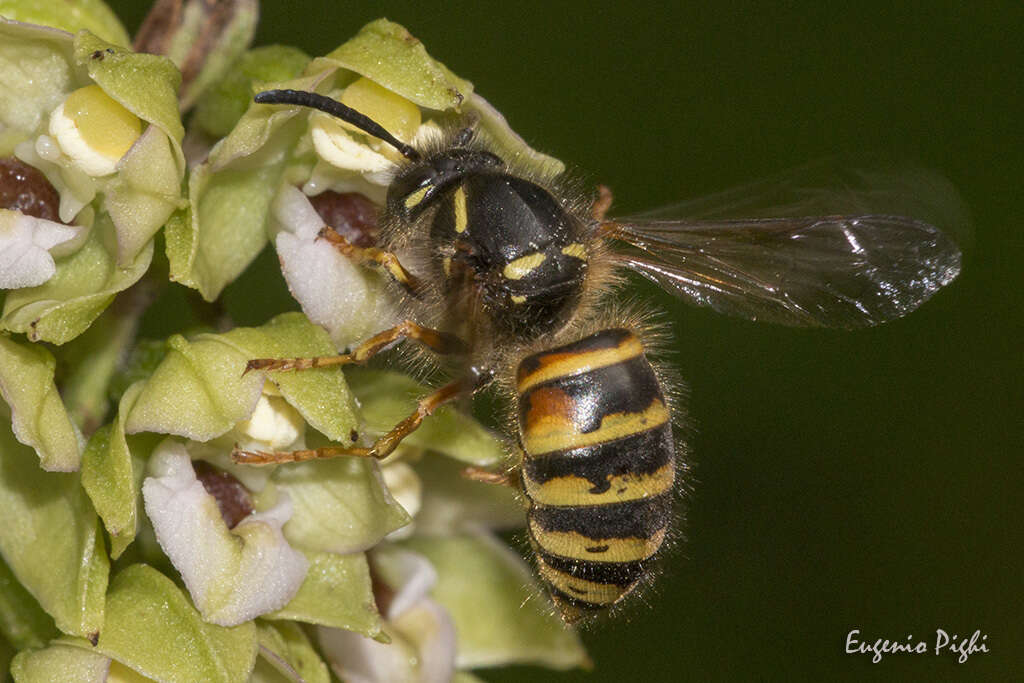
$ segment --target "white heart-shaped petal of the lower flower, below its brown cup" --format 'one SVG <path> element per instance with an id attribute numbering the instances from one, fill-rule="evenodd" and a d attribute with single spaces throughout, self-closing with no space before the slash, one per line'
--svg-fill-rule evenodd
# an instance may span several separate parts
<path id="1" fill-rule="evenodd" d="M 181 443 L 162 442 L 150 472 L 142 484 L 145 512 L 203 618 L 236 626 L 280 609 L 295 596 L 308 562 L 281 532 L 292 516 L 287 496 L 229 530 Z"/>

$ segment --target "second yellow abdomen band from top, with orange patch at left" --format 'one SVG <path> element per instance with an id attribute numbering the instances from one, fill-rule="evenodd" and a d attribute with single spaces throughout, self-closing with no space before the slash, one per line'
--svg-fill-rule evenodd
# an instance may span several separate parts
<path id="1" fill-rule="evenodd" d="M 536 395 L 536 394 L 534 394 Z M 579 431 L 568 415 L 548 413 L 526 416 L 522 442 L 526 453 L 540 456 L 554 451 L 582 449 L 595 443 L 632 436 L 669 421 L 669 409 L 659 398 L 640 413 L 613 413 L 601 419 L 601 426 L 592 432 Z"/>

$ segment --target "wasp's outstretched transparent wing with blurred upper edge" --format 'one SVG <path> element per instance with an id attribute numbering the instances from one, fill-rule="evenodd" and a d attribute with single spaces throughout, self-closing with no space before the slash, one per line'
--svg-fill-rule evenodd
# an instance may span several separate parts
<path id="1" fill-rule="evenodd" d="M 857 182 L 756 183 L 601 227 L 618 243 L 618 264 L 697 305 L 780 325 L 868 327 L 905 315 L 957 275 L 961 252 L 946 232 L 967 234 L 969 223 L 934 174 L 846 173 Z M 940 195 L 922 191 L 925 179 Z M 763 216 L 719 217 L 753 211 Z M 656 219 L 679 212 L 695 217 Z"/>

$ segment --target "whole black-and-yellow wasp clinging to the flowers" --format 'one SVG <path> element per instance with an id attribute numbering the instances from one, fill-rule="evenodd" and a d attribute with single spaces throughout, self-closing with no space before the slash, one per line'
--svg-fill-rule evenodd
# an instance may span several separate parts
<path id="1" fill-rule="evenodd" d="M 811 196 L 788 216 L 613 220 L 610 193 L 580 198 L 559 177 L 502 159 L 472 125 L 414 148 L 316 93 L 269 90 L 256 101 L 326 112 L 401 154 L 379 245 L 327 228 L 322 237 L 388 273 L 408 319 L 342 355 L 258 358 L 247 370 L 358 364 L 409 340 L 451 358 L 455 375 L 369 446 L 236 451 L 236 460 L 384 458 L 439 405 L 503 386 L 521 458 L 509 473 L 475 476 L 524 494 L 538 573 L 568 623 L 614 605 L 649 574 L 679 485 L 671 392 L 648 357 L 643 316 L 609 303 L 623 272 L 751 321 L 838 328 L 900 317 L 959 272 L 952 240 L 911 217 L 807 213 Z M 878 195 L 850 193 L 848 205 Z"/>

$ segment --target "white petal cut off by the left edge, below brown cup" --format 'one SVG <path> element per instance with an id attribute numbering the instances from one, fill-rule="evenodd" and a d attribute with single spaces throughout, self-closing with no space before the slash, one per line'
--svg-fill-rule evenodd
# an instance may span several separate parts
<path id="1" fill-rule="evenodd" d="M 0 209 L 0 289 L 42 285 L 56 272 L 49 250 L 80 228 Z"/>

